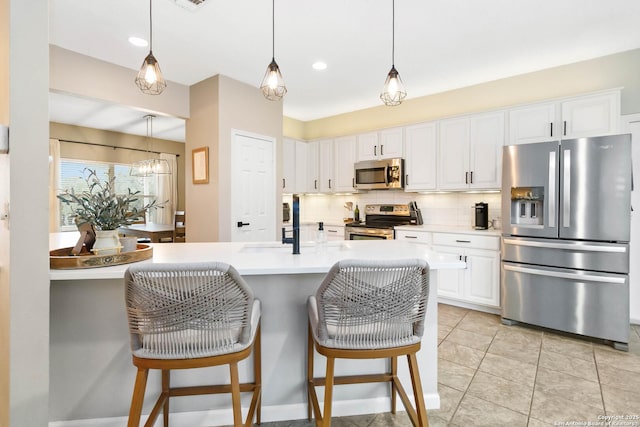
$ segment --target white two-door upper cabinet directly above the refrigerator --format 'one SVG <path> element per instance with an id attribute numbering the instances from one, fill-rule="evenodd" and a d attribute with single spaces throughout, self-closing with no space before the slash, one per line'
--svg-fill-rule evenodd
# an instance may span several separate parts
<path id="1" fill-rule="evenodd" d="M 619 90 L 526 105 L 509 111 L 508 144 L 612 135 L 619 131 Z"/>

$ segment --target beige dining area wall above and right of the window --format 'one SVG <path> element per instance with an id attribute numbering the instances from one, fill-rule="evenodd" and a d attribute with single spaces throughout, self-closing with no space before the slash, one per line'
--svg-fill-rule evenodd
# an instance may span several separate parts
<path id="1" fill-rule="evenodd" d="M 136 148 L 141 150 L 158 151 L 168 154 L 177 154 L 178 162 L 178 204 L 177 209 L 184 209 L 184 168 L 185 168 L 185 144 L 166 139 L 144 136 L 128 135 L 119 132 L 111 132 L 100 129 L 81 126 L 66 125 L 63 123 L 49 123 L 49 135 L 51 138 L 69 141 L 90 142 L 102 144 L 108 147 L 94 145 L 82 145 L 73 143 L 60 143 L 60 156 L 70 159 L 95 160 L 113 163 L 132 163 L 138 160 L 148 159 L 149 154 L 141 151 L 114 150 L 111 146 L 122 148 Z M 148 145 L 147 145 L 148 143 Z"/>

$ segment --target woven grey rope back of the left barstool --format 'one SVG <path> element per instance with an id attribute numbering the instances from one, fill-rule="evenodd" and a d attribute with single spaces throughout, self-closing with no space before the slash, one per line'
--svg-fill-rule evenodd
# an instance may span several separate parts
<path id="1" fill-rule="evenodd" d="M 228 264 L 133 265 L 125 287 L 131 350 L 138 357 L 207 357 L 250 343 L 253 293 Z"/>

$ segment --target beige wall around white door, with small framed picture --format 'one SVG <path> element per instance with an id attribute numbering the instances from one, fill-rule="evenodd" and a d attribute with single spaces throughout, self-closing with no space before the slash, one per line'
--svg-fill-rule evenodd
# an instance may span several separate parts
<path id="1" fill-rule="evenodd" d="M 209 184 L 186 184 L 186 211 L 190 215 L 187 240 L 229 241 L 231 131 L 236 129 L 275 138 L 279 165 L 282 159 L 282 103 L 268 101 L 255 87 L 220 75 L 193 85 L 190 97 L 186 149 L 191 152 L 197 147 L 209 147 Z M 280 168 L 276 170 L 279 182 Z M 191 176 L 190 165 L 187 176 Z M 277 188 L 276 206 L 279 206 L 282 194 Z M 281 210 L 276 209 L 276 213 L 276 224 L 279 224 Z M 193 229 L 198 232 L 191 232 Z"/>

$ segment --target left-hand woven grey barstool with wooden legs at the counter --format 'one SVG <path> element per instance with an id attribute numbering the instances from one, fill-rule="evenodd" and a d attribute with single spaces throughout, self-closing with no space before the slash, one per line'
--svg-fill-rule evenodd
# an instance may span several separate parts
<path id="1" fill-rule="evenodd" d="M 242 426 L 240 392 L 252 392 L 244 422 L 260 424 L 260 301 L 238 272 L 224 263 L 138 264 L 125 274 L 133 364 L 138 368 L 128 426 L 138 427 L 149 369 L 162 371 L 162 392 L 145 426 L 169 398 L 231 393 L 234 426 Z M 253 350 L 253 382 L 241 384 L 238 362 Z M 231 384 L 171 387 L 172 369 L 229 365 Z"/>

